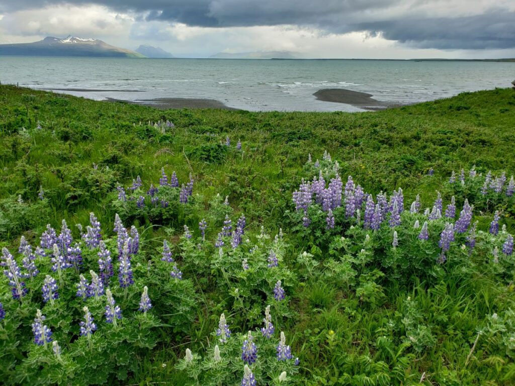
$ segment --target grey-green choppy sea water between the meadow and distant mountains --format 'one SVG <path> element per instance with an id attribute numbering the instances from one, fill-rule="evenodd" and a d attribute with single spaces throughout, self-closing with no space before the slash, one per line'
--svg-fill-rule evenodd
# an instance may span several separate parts
<path id="1" fill-rule="evenodd" d="M 0 57 L 0 81 L 101 100 L 209 98 L 250 111 L 361 111 L 321 89 L 414 103 L 508 87 L 515 63 Z M 91 91 L 95 90 L 95 91 Z"/>

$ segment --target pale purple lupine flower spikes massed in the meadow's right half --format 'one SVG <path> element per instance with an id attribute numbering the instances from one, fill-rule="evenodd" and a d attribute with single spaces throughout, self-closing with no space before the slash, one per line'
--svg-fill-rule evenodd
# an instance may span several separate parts
<path id="1" fill-rule="evenodd" d="M 308 163 L 310 161 L 308 160 Z M 472 169 L 466 177 L 464 170 L 461 170 L 459 177 L 453 172 L 450 183 L 455 183 L 457 178 L 462 184 L 468 179 L 477 179 L 479 175 Z M 484 188 L 485 194 L 490 189 L 496 193 L 505 192 L 507 196 L 513 194 L 513 178 L 510 182 L 506 183 L 505 173 L 501 176 L 493 178 L 489 172 L 485 178 Z M 355 185 L 352 177 L 349 176 L 345 188 L 341 189 L 341 180 L 339 176 L 333 178 L 329 186 L 325 187 L 325 181 L 322 174 L 319 173 L 318 178 L 315 177 L 312 182 L 302 181 L 298 190 L 293 194 L 293 201 L 295 208 L 298 212 L 303 213 L 303 224 L 309 226 L 311 220 L 308 218 L 308 208 L 312 205 L 320 205 L 319 207 L 323 212 L 327 213 L 326 229 L 331 230 L 334 227 L 335 219 L 332 209 L 337 206 L 345 205 L 345 214 L 347 220 L 355 221 L 358 225 L 363 224 L 365 229 L 377 231 L 383 223 L 387 223 L 392 230 L 393 241 L 392 247 L 396 248 L 399 245 L 399 238 L 395 228 L 402 223 L 401 214 L 404 212 L 404 197 L 402 189 L 393 191 L 392 195 L 387 197 L 383 192 L 376 195 L 375 200 L 372 195 L 363 191 L 361 186 Z M 344 200 L 341 202 L 339 198 L 343 193 Z M 409 212 L 411 214 L 420 215 L 421 202 L 420 197 L 417 196 L 415 201 L 411 204 Z M 364 210 L 363 222 L 361 221 L 361 213 Z M 440 262 L 446 260 L 445 253 L 450 249 L 452 242 L 455 240 L 455 234 L 464 234 L 466 236 L 466 245 L 471 251 L 475 245 L 475 226 L 471 227 L 473 206 L 465 200 L 458 219 L 456 220 L 456 200 L 454 196 L 451 202 L 443 209 L 443 201 L 439 192 L 434 201 L 432 208 L 426 208 L 423 215 L 427 221 L 424 221 L 420 233 L 419 240 L 426 241 L 430 238 L 428 233 L 428 221 L 434 221 L 445 217 L 448 222 L 445 223 L 444 229 L 440 233 L 438 245 L 441 249 Z M 490 224 L 490 233 L 493 235 L 499 234 L 499 212 L 496 212 L 493 221 Z M 420 228 L 419 220 L 415 223 L 415 229 Z M 507 250 L 509 251 L 510 242 L 507 240 Z"/>

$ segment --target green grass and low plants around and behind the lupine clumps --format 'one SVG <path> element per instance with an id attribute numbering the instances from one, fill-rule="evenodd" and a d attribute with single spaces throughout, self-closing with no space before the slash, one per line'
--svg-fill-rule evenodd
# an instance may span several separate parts
<path id="1" fill-rule="evenodd" d="M 161 132 L 148 125 L 158 120 L 170 120 L 175 128 Z M 36 129 L 38 122 L 42 130 Z M 85 224 L 90 212 L 99 218 L 102 232 L 111 235 L 118 184 L 128 186 L 141 176 L 147 189 L 159 181 L 162 167 L 168 175 L 175 170 L 181 183 L 192 173 L 198 196 L 189 212 L 165 222 L 134 219 L 144 248 L 155 250 L 165 236 L 177 241 L 185 223 L 198 233 L 198 221 L 210 213 L 216 194 L 229 196 L 235 212 L 246 215 L 251 234 L 262 225 L 272 234 L 282 227 L 289 243 L 284 265 L 298 279 L 289 289 L 291 315 L 278 323 L 302 360 L 299 384 L 510 385 L 515 363 L 512 353 L 500 352 L 497 338 L 480 340 L 472 359 L 467 356 L 486 315 L 515 308 L 513 271 L 501 279 L 480 264 L 463 265 L 437 275 L 434 283 L 420 277 L 403 282 L 374 276 L 370 260 L 370 269 L 364 262 L 363 270 L 353 260 L 357 276 L 346 279 L 345 270 L 332 271 L 329 264 L 330 258 L 345 260 L 344 252 L 331 254 L 329 242 L 291 230 L 288 211 L 293 209 L 291 193 L 310 177 L 303 168 L 308 153 L 315 160 L 329 151 L 344 183 L 351 175 L 374 195 L 402 187 L 405 205 L 420 194 L 427 206 L 435 190 L 449 201 L 453 193 L 445 182 L 452 170 L 475 166 L 483 174 L 507 171 L 509 178 L 515 171 L 514 128 L 511 89 L 462 93 L 381 112 L 284 113 L 160 111 L 2 85 L 0 243 L 14 249 L 24 235 L 37 244 L 47 223 L 56 229 L 62 219 L 71 227 Z M 231 148 L 220 145 L 226 136 Z M 234 149 L 238 139 L 242 152 Z M 432 177 L 427 176 L 431 168 Z M 37 205 L 40 186 L 48 199 L 44 207 Z M 16 209 L 19 195 L 27 203 L 25 212 Z M 505 208 L 508 230 L 514 210 Z M 488 214 L 476 214 L 481 229 L 488 227 L 490 219 L 482 217 Z M 213 240 L 218 232 L 218 226 L 211 226 L 207 237 Z M 306 268 L 297 259 L 303 251 L 319 265 Z M 228 295 L 218 289 L 222 284 L 208 276 L 195 277 L 194 283 L 198 304 L 189 333 L 163 339 L 137 358 L 138 370 L 129 374 L 128 384 L 185 381 L 174 364 L 186 347 L 202 352 L 219 313 L 228 307 Z M 233 318 L 241 312 L 230 311 Z M 260 325 L 261 310 L 256 320 L 239 318 L 245 327 Z M 424 326 L 432 338 L 424 335 Z M 418 334 L 424 348 L 406 344 L 402 337 L 410 334 Z"/>

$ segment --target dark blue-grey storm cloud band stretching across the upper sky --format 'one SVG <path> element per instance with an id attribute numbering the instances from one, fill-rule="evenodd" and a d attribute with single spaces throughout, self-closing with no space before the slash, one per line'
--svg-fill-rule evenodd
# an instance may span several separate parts
<path id="1" fill-rule="evenodd" d="M 98 4 L 119 12 L 135 12 L 147 21 L 200 27 L 290 24 L 328 33 L 368 31 L 418 48 L 515 47 L 515 12 L 493 9 L 455 17 L 421 16 L 409 7 L 389 12 L 403 4 L 399 0 L 0 0 L 0 12 L 55 4 Z M 378 16 L 382 11 L 387 16 Z"/>

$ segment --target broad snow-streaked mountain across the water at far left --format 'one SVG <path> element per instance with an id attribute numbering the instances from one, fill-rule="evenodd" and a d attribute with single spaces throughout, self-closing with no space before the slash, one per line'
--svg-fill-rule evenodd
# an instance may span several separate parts
<path id="1" fill-rule="evenodd" d="M 46 37 L 33 43 L 0 44 L 0 55 L 145 57 L 139 52 L 115 47 L 98 39 L 81 39 L 72 36 L 64 39 Z"/>

